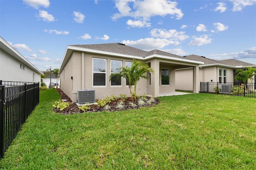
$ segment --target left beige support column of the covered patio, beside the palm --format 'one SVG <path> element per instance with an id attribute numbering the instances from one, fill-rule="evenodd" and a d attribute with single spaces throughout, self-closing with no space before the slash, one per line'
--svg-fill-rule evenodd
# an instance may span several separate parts
<path id="1" fill-rule="evenodd" d="M 159 74 L 160 74 L 160 66 L 158 59 L 154 59 L 151 61 L 151 68 L 154 70 L 154 74 L 151 74 L 151 95 L 154 97 L 159 96 Z"/>

